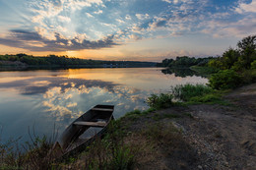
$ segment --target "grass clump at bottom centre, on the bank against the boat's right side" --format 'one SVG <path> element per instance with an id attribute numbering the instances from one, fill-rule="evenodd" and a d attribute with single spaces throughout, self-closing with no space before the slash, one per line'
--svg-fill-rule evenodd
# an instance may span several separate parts
<path id="1" fill-rule="evenodd" d="M 132 169 L 134 154 L 131 146 L 123 142 L 123 131 L 118 122 L 111 122 L 104 139 L 96 139 L 82 153 L 75 169 Z M 84 162 L 83 162 L 84 160 Z M 81 161 L 83 162 L 81 164 Z"/>

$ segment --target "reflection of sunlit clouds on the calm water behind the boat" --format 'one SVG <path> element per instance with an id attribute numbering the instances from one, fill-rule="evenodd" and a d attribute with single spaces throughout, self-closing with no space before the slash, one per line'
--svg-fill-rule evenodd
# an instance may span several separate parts
<path id="1" fill-rule="evenodd" d="M 35 77 L 2 83 L 0 88 L 15 88 L 22 95 L 41 95 L 43 111 L 55 121 L 63 122 L 77 118 L 96 103 L 115 105 L 122 103 L 118 104 L 116 116 L 119 117 L 121 110 L 135 107 L 136 104 L 144 101 L 146 95 L 142 90 L 134 87 L 111 82 L 63 77 Z M 83 109 L 84 105 L 88 107 Z"/>

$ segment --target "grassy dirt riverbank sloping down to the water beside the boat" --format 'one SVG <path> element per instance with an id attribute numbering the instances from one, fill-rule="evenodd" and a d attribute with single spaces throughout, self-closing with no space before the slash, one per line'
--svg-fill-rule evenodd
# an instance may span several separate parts
<path id="1" fill-rule="evenodd" d="M 209 90 L 202 87 L 196 88 Z M 162 94 L 160 99 L 169 105 L 157 102 L 153 106 L 168 108 L 127 113 L 110 124 L 103 139 L 66 160 L 56 162 L 50 156 L 44 157 L 50 146 L 35 141 L 41 146 L 16 161 L 28 169 L 253 169 L 256 84 L 224 92 L 221 100 L 216 100 L 220 94 L 208 92 L 202 97 L 211 100 L 207 103 L 195 97 L 184 98 L 188 102 L 170 103 L 171 95 Z M 157 101 L 158 96 L 149 100 Z"/>

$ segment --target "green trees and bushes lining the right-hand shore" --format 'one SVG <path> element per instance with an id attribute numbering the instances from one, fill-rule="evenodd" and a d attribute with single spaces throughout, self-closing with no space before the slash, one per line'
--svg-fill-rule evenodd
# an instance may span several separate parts
<path id="1" fill-rule="evenodd" d="M 160 66 L 189 67 L 200 75 L 210 78 L 209 85 L 214 89 L 229 89 L 256 82 L 256 35 L 244 37 L 236 48 L 228 48 L 219 57 L 194 58 L 176 57 L 164 59 Z"/>

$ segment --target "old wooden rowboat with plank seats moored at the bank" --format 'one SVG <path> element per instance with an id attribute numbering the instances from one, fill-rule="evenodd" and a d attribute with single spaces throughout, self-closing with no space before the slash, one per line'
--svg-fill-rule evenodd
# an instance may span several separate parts
<path id="1" fill-rule="evenodd" d="M 113 105 L 96 105 L 76 119 L 55 142 L 52 148 L 54 156 L 70 155 L 85 149 L 96 137 L 105 132 L 110 120 L 113 119 L 113 111 Z M 83 134 L 92 127 L 99 130 L 91 138 L 84 138 Z"/>

